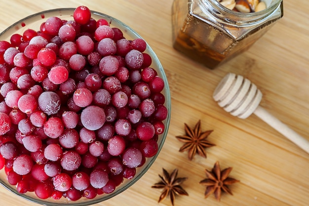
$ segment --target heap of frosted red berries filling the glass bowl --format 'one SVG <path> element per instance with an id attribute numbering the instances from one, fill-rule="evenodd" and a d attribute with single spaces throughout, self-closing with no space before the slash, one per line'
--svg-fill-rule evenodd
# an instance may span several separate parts
<path id="1" fill-rule="evenodd" d="M 85 6 L 0 41 L 0 169 L 19 193 L 112 193 L 158 151 L 168 110 L 142 39 Z"/>

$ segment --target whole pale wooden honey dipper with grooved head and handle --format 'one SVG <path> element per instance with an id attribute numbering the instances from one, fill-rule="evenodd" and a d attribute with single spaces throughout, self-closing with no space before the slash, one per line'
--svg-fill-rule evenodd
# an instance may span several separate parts
<path id="1" fill-rule="evenodd" d="M 213 98 L 231 115 L 246 119 L 252 113 L 269 124 L 283 136 L 309 153 L 309 141 L 273 117 L 259 106 L 262 92 L 248 79 L 232 73 L 227 74 L 216 87 Z"/>

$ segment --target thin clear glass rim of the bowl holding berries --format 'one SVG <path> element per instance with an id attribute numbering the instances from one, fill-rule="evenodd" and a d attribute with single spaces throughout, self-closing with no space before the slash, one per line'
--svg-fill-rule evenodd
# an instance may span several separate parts
<path id="1" fill-rule="evenodd" d="M 10 25 L 9 27 L 7 27 L 5 30 L 3 30 L 1 33 L 0 33 L 0 38 L 1 36 L 3 36 L 6 32 L 8 32 L 9 30 L 13 29 L 13 28 L 16 28 L 16 26 L 24 23 L 26 20 L 29 20 L 33 17 L 36 17 L 36 16 L 39 16 L 39 15 L 42 15 L 42 14 L 46 14 L 46 13 L 51 13 L 51 12 L 61 12 L 61 11 L 65 11 L 65 12 L 72 12 L 72 15 L 73 15 L 73 11 L 75 10 L 76 8 L 72 8 L 72 7 L 67 7 L 67 8 L 55 8 L 55 9 L 48 9 L 48 10 L 43 10 L 43 11 L 40 11 L 40 12 L 37 12 L 37 13 L 34 13 L 34 14 L 31 14 L 25 18 L 22 18 L 20 19 L 19 21 L 13 23 L 12 25 Z M 101 16 L 102 18 L 107 18 L 107 19 L 110 19 L 110 23 L 112 22 L 116 22 L 116 24 L 119 24 L 119 25 L 122 25 L 123 27 L 125 27 L 128 31 L 126 32 L 129 32 L 131 34 L 129 35 L 133 35 L 133 36 L 136 36 L 138 38 L 141 38 L 143 39 L 137 32 L 135 32 L 131 27 L 129 27 L 127 24 L 123 23 L 122 21 L 116 19 L 115 17 L 112 17 L 108 14 L 105 14 L 105 13 L 101 13 L 101 12 L 98 12 L 98 11 L 94 11 L 94 10 L 90 10 L 91 11 L 91 15 L 92 14 L 95 14 L 97 16 Z M 64 15 L 64 14 L 63 14 Z M 65 14 L 66 15 L 66 14 Z M 61 16 L 61 15 L 60 15 Z M 46 17 L 44 17 L 46 18 Z M 47 18 L 46 18 L 47 19 Z M 19 28 L 20 29 L 20 28 Z M 1 39 L 0 39 L 1 41 Z M 158 144 L 158 151 L 157 153 L 151 157 L 151 158 L 148 158 L 150 159 L 148 164 L 145 165 L 145 167 L 143 167 L 141 170 L 140 170 L 140 173 L 136 174 L 134 176 L 133 179 L 131 180 L 127 180 L 127 185 L 121 187 L 121 188 L 118 188 L 118 190 L 115 190 L 113 193 L 111 194 L 106 194 L 106 195 L 101 195 L 102 197 L 99 197 L 99 198 L 96 198 L 96 199 L 86 199 L 85 202 L 78 202 L 77 201 L 72 201 L 71 203 L 57 203 L 57 200 L 55 200 L 55 202 L 48 202 L 47 200 L 48 199 L 36 199 L 36 198 L 33 198 L 33 197 L 30 197 L 28 195 L 26 195 L 27 193 L 25 194 L 22 194 L 22 193 L 19 193 L 17 192 L 16 189 L 12 189 L 12 187 L 9 187 L 7 186 L 7 183 L 5 183 L 3 180 L 0 179 L 0 185 L 2 185 L 4 188 L 6 188 L 7 190 L 9 190 L 10 192 L 14 193 L 15 195 L 27 200 L 27 201 L 30 201 L 30 202 L 33 202 L 33 203 L 37 203 L 37 204 L 40 204 L 40 205 L 44 205 L 44 206 L 62 206 L 62 205 L 68 205 L 68 206 L 89 206 L 89 205 L 93 205 L 93 204 L 97 204 L 97 203 L 100 203 L 100 202 L 103 202 L 103 201 L 106 201 L 110 198 L 113 198 L 115 197 L 116 195 L 122 193 L 123 191 L 125 191 L 126 189 L 128 189 L 130 186 L 132 186 L 134 183 L 136 183 L 147 171 L 148 169 L 153 165 L 154 161 L 156 160 L 157 156 L 159 155 L 162 147 L 163 147 L 163 144 L 165 142 L 165 139 L 167 137 L 167 133 L 168 133 L 168 129 L 169 129 L 169 124 L 170 124 L 170 118 L 171 118 L 171 96 L 170 96 L 170 89 L 169 89 L 169 85 L 168 85 L 168 82 L 167 82 L 167 78 L 166 78 L 166 74 L 163 70 L 163 67 L 158 59 L 158 57 L 156 56 L 156 54 L 154 53 L 154 50 L 151 48 L 151 46 L 148 44 L 148 42 L 146 41 L 146 44 L 147 44 L 147 50 L 148 50 L 148 53 L 151 55 L 152 59 L 154 59 L 153 62 L 155 62 L 155 64 L 157 65 L 158 70 L 160 70 L 160 77 L 163 79 L 164 81 L 164 97 L 165 97 L 165 103 L 164 105 L 166 105 L 166 108 L 168 110 L 168 114 L 167 114 L 167 118 L 163 121 L 164 122 L 164 125 L 165 125 L 165 129 L 164 129 L 164 132 L 162 134 L 160 134 L 162 140 L 159 142 L 160 144 Z M 1 169 L 2 170 L 2 169 Z M 123 184 L 123 183 L 121 183 Z M 120 185 L 121 185 L 120 184 Z M 118 187 L 118 186 L 117 186 Z M 116 187 L 116 188 L 117 188 Z"/>

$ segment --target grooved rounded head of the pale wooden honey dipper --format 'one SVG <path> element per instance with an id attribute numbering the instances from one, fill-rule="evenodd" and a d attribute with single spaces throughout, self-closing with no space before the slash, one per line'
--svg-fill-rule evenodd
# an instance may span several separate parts
<path id="1" fill-rule="evenodd" d="M 241 119 L 249 117 L 259 106 L 262 92 L 248 79 L 228 73 L 216 87 L 213 98 L 231 115 Z"/>

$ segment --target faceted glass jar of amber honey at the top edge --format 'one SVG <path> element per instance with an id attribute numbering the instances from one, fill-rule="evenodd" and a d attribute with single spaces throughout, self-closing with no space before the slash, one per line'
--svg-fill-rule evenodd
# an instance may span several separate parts
<path id="1" fill-rule="evenodd" d="M 232 0 L 231 9 L 219 1 L 174 0 L 172 5 L 173 47 L 209 69 L 247 50 L 283 16 L 282 0 L 262 0 L 265 8 L 256 12 L 251 5 L 249 12 L 235 8 L 249 0 Z"/>

